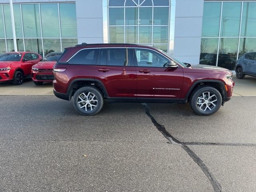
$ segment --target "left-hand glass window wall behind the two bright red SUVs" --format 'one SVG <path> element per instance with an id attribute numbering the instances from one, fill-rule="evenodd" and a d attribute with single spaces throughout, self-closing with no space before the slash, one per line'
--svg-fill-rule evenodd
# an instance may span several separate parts
<path id="1" fill-rule="evenodd" d="M 13 4 L 18 51 L 45 56 L 78 44 L 75 3 Z M 0 53 L 14 51 L 10 4 L 0 4 Z"/>

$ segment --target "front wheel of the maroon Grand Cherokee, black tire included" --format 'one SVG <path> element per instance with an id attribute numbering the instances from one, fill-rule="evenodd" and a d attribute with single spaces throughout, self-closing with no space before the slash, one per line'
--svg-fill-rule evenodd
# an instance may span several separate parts
<path id="1" fill-rule="evenodd" d="M 204 97 L 203 97 L 203 93 L 205 93 L 205 92 L 207 92 L 207 95 L 204 94 Z M 208 100 L 209 92 L 210 92 L 210 99 Z M 213 95 L 215 95 L 215 96 L 213 96 Z M 204 99 L 200 99 L 200 98 L 204 98 Z M 202 104 L 198 104 L 198 102 L 202 103 Z M 207 116 L 207 115 L 214 114 L 215 112 L 217 112 L 219 110 L 219 108 L 222 104 L 222 96 L 216 88 L 211 87 L 211 86 L 202 86 L 192 92 L 189 103 L 190 103 L 191 108 L 198 115 Z M 204 111 L 205 108 L 206 108 L 206 110 Z"/>

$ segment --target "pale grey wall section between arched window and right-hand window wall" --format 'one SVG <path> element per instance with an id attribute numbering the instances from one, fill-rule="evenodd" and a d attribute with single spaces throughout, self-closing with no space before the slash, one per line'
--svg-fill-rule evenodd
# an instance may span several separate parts
<path id="1" fill-rule="evenodd" d="M 203 9 L 204 0 L 176 0 L 173 55 L 182 62 L 199 64 Z"/>

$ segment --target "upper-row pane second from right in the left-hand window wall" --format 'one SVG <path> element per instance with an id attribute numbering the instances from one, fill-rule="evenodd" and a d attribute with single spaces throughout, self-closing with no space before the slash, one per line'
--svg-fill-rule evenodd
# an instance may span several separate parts
<path id="1" fill-rule="evenodd" d="M 40 4 L 43 37 L 60 37 L 58 4 Z"/>

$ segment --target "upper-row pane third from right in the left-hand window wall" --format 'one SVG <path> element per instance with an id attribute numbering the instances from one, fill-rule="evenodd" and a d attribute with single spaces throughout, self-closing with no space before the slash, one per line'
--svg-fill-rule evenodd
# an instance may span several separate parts
<path id="1" fill-rule="evenodd" d="M 25 38 L 41 37 L 39 5 L 22 4 L 22 20 Z"/>

